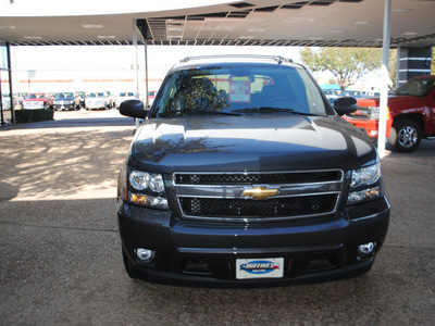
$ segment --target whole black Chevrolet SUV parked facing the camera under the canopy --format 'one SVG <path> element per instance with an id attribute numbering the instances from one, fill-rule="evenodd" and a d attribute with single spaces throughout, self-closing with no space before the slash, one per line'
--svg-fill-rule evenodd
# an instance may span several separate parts
<path id="1" fill-rule="evenodd" d="M 187 58 L 144 118 L 117 190 L 133 278 L 278 285 L 368 272 L 388 228 L 370 139 L 301 65 L 271 57 Z"/>

